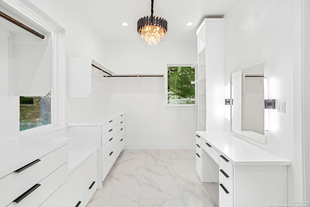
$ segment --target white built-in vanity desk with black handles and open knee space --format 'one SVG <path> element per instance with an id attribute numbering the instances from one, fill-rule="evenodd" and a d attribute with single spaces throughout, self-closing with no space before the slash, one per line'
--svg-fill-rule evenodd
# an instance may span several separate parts
<path id="1" fill-rule="evenodd" d="M 219 207 L 287 203 L 289 160 L 221 131 L 196 131 L 196 155 L 202 182 L 219 182 Z"/>

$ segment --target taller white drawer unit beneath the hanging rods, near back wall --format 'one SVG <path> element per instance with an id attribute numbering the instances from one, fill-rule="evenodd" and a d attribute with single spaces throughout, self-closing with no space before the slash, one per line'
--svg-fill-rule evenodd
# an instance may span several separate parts
<path id="1" fill-rule="evenodd" d="M 69 148 L 96 147 L 98 189 L 125 147 L 125 113 L 107 112 L 69 122 Z"/>

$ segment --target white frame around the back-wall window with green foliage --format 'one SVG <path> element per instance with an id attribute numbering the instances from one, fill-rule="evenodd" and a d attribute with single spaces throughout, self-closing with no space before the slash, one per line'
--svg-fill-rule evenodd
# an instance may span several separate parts
<path id="1" fill-rule="evenodd" d="M 168 67 L 192 67 L 195 68 L 195 80 L 197 79 L 197 69 L 194 67 L 195 64 L 167 64 L 165 72 L 165 103 L 167 110 L 193 110 L 197 109 L 197 87 L 195 84 L 195 104 L 168 104 Z"/>

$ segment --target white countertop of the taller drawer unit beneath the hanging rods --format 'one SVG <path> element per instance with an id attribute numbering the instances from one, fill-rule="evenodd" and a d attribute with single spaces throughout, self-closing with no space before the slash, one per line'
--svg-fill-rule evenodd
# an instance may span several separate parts
<path id="1" fill-rule="evenodd" d="M 124 111 L 109 111 L 104 113 L 98 113 L 93 116 L 88 116 L 82 119 L 78 119 L 72 122 L 68 122 L 69 126 L 101 126 L 117 116 L 124 114 Z"/>

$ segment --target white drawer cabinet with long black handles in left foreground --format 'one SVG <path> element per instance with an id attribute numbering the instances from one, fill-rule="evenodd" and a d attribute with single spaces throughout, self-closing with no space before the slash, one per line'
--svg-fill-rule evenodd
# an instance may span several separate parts
<path id="1" fill-rule="evenodd" d="M 37 207 L 56 191 L 68 177 L 67 143 L 66 138 L 0 143 L 0 206 Z M 6 174 L 7 169 L 14 170 Z"/>

